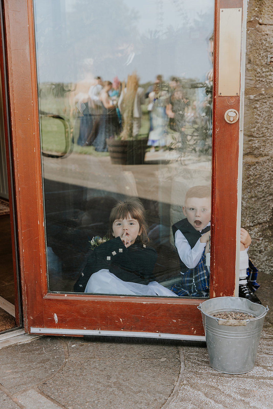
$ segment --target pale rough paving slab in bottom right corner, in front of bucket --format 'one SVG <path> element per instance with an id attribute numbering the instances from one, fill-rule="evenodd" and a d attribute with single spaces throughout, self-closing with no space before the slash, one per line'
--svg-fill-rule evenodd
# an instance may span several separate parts
<path id="1" fill-rule="evenodd" d="M 272 409 L 272 396 L 273 380 L 190 373 L 168 409 Z"/>

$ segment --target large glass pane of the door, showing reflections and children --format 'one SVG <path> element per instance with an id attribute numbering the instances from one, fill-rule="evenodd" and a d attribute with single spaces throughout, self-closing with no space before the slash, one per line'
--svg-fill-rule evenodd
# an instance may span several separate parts
<path id="1" fill-rule="evenodd" d="M 50 291 L 208 297 L 213 11 L 34 0 Z"/>

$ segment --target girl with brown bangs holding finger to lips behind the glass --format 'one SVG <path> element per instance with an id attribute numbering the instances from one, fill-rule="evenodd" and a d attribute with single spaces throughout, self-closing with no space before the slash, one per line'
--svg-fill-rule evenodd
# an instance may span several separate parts
<path id="1" fill-rule="evenodd" d="M 95 247 L 74 291 L 176 297 L 153 281 L 157 254 L 147 245 L 147 222 L 140 200 L 129 198 L 115 205 L 109 226 L 112 239 Z"/>

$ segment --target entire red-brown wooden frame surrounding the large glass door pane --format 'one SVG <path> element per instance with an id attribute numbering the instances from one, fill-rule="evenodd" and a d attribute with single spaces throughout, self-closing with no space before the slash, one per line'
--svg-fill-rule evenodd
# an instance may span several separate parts
<path id="1" fill-rule="evenodd" d="M 243 0 L 215 1 L 211 297 L 235 294 L 239 121 L 230 126 L 223 120 L 230 106 L 226 97 L 218 96 L 217 67 L 219 7 L 237 7 L 237 4 L 243 7 Z M 26 332 L 82 336 L 87 330 L 96 335 L 118 331 L 124 335 L 150 333 L 204 339 L 201 314 L 197 310 L 201 299 L 47 292 L 33 5 L 32 0 L 2 0 L 2 7 L 18 264 Z M 235 98 L 232 108 L 239 112 L 240 96 Z"/>

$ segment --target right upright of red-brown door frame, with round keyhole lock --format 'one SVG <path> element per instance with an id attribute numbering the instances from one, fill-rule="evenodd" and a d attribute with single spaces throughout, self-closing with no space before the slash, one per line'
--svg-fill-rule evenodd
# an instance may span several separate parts
<path id="1" fill-rule="evenodd" d="M 219 0 L 217 0 L 218 2 Z M 212 246 L 210 297 L 233 296 L 235 291 L 239 120 L 228 124 L 225 112 L 240 113 L 240 97 L 218 95 L 219 9 L 214 16 L 214 87 L 212 127 Z M 221 0 L 220 0 L 221 3 Z M 225 0 L 226 7 L 235 7 Z M 223 5 L 221 5 L 223 7 Z"/>

